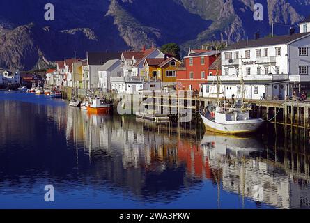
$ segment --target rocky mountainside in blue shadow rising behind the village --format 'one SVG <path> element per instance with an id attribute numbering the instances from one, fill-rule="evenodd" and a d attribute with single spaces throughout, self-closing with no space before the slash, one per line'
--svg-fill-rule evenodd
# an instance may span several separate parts
<path id="1" fill-rule="evenodd" d="M 270 33 L 272 22 L 297 24 L 310 0 L 265 0 L 263 22 L 253 20 L 254 0 L 1 0 L 0 67 L 44 68 L 49 61 L 86 51 L 141 49 L 176 42 L 183 49 L 210 40 Z M 44 20 L 45 3 L 55 21 Z M 289 26 L 275 25 L 278 35 Z"/>

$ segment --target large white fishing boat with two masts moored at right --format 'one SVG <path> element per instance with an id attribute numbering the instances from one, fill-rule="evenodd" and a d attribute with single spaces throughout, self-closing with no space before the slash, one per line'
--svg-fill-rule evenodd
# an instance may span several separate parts
<path id="1" fill-rule="evenodd" d="M 219 82 L 217 66 L 217 89 L 219 89 Z M 237 100 L 233 105 L 227 106 L 226 101 L 221 102 L 219 97 L 224 93 L 217 90 L 217 104 L 199 112 L 207 130 L 224 134 L 248 134 L 256 132 L 263 125 L 263 119 L 249 116 L 251 107 L 245 103 L 245 86 L 242 74 L 241 87 L 242 98 L 240 101 Z"/>

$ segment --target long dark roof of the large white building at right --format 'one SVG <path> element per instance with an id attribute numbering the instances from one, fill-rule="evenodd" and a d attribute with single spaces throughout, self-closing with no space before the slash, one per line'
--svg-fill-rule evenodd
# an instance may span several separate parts
<path id="1" fill-rule="evenodd" d="M 243 49 L 243 48 L 248 48 L 248 47 L 263 47 L 263 46 L 269 46 L 269 45 L 288 44 L 295 40 L 298 40 L 299 38 L 303 38 L 309 35 L 310 33 L 295 33 L 295 34 L 286 35 L 286 36 L 259 38 L 257 40 L 243 40 L 233 45 L 230 45 L 223 50 L 226 51 L 230 49 Z"/>

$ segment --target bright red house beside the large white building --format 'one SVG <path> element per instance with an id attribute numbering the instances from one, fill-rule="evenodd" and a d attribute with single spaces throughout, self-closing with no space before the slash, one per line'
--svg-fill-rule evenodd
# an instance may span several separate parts
<path id="1" fill-rule="evenodd" d="M 216 54 L 215 51 L 192 50 L 185 56 L 176 72 L 177 89 L 202 92 L 201 84 L 206 83 L 209 75 L 215 75 L 216 71 L 210 70 L 210 66 L 216 61 Z"/>

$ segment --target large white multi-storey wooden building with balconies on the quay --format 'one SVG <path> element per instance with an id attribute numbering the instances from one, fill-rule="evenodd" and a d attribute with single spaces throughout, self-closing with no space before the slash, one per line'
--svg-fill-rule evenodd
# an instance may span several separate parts
<path id="1" fill-rule="evenodd" d="M 245 98 L 288 99 L 293 91 L 310 92 L 310 33 L 291 33 L 245 40 L 226 47 L 221 53 L 220 89 L 212 87 L 217 77 L 209 76 L 203 84 L 203 97 L 241 97 L 241 76 L 245 81 Z"/>

